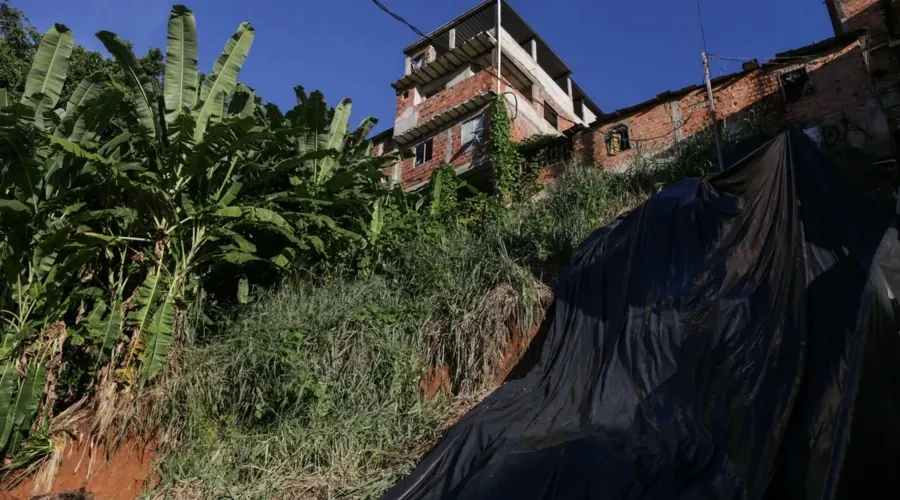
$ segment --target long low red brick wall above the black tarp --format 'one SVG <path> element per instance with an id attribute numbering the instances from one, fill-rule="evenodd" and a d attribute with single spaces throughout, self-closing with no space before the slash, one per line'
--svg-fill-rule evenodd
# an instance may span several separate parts
<path id="1" fill-rule="evenodd" d="M 873 97 L 858 42 L 810 59 L 805 66 L 815 90 L 812 95 L 805 95 L 794 103 L 784 102 L 779 76 L 801 65 L 765 66 L 717 85 L 714 93 L 718 118 L 729 125 L 746 125 L 755 115 L 758 122 L 781 128 L 785 124 L 803 125 L 844 109 L 863 106 Z M 659 152 L 675 142 L 676 128 L 682 138 L 686 138 L 711 125 L 706 103 L 706 89 L 699 88 L 669 102 L 591 127 L 574 139 L 576 158 L 613 168 L 627 164 L 635 156 Z M 683 123 L 680 127 L 673 125 L 672 106 L 680 110 L 678 122 Z M 628 125 L 632 148 L 609 156 L 605 135 L 619 124 Z"/>

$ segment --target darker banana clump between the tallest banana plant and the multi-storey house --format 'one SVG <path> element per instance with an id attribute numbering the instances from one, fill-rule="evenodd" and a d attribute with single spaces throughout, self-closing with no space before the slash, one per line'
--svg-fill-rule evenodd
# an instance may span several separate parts
<path id="1" fill-rule="evenodd" d="M 285 158 L 273 175 L 280 184 L 265 186 L 268 199 L 284 207 L 298 231 L 316 234 L 324 254 L 338 260 L 359 254 L 365 265 L 371 259 L 362 253 L 371 244 L 372 228 L 381 225 L 378 200 L 390 191 L 384 172 L 402 154 L 371 155 L 366 137 L 377 120 L 366 118 L 351 131 L 350 99 L 331 108 L 321 92 L 307 94 L 300 86 L 294 92 L 297 104 L 284 115 L 272 105 L 256 109 L 257 120 L 276 138 L 271 154 Z"/>

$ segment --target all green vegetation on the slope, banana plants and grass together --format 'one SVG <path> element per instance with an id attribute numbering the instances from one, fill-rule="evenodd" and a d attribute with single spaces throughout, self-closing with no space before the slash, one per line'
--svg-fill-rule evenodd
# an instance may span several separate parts
<path id="1" fill-rule="evenodd" d="M 701 137 L 627 174 L 573 166 L 525 202 L 537 170 L 519 172 L 498 99 L 496 195 L 452 168 L 407 194 L 349 99 L 296 87 L 282 113 L 238 82 L 252 26 L 206 76 L 193 14 L 168 28 L 165 58 L 143 59 L 101 31 L 107 60 L 0 4 L 0 458 L 17 474 L 52 477 L 86 426 L 96 444 L 160 433 L 174 497 L 378 495 L 504 376 L 580 241 L 714 157 Z"/>

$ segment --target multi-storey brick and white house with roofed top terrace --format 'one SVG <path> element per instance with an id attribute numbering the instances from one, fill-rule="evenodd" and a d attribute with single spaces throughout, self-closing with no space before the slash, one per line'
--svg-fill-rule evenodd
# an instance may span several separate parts
<path id="1" fill-rule="evenodd" d="M 427 183 L 442 164 L 474 185 L 490 179 L 486 109 L 500 93 L 512 120 L 511 138 L 562 135 L 588 126 L 602 112 L 572 79 L 572 70 L 524 19 L 501 2 L 485 1 L 403 52 L 394 127 L 373 138 L 375 153 L 409 149 L 414 157 L 389 172 L 406 189 Z"/>

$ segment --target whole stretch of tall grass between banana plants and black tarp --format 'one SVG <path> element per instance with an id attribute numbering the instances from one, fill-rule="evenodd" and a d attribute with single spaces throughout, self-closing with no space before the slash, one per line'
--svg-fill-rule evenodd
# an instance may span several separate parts
<path id="1" fill-rule="evenodd" d="M 377 497 L 495 386 L 513 330 L 540 321 L 574 248 L 708 166 L 667 154 L 664 168 L 622 174 L 572 167 L 543 199 L 505 215 L 411 230 L 376 275 L 298 280 L 248 306 L 167 376 L 156 493 Z M 419 382 L 436 367 L 451 393 L 426 400 Z"/>

